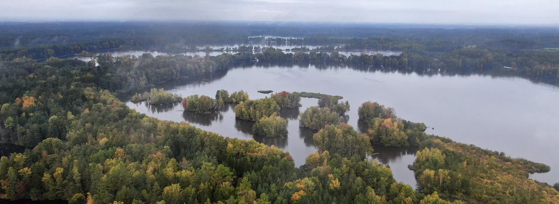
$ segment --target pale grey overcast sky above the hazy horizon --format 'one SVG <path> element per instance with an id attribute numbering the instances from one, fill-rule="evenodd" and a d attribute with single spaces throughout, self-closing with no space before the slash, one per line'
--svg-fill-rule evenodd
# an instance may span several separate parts
<path id="1" fill-rule="evenodd" d="M 0 21 L 209 20 L 559 25 L 558 0 L 0 0 Z"/>

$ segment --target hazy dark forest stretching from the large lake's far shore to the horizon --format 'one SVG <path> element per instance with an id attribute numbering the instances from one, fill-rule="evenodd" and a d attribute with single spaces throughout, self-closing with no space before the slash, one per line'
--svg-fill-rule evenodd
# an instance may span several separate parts
<path id="1" fill-rule="evenodd" d="M 304 23 L 303 23 L 304 24 Z M 146 29 L 140 22 L 107 23 L 68 22 L 53 25 L 37 23 L 0 24 L 0 59 L 11 61 L 26 56 L 48 59 L 51 56 L 79 54 L 83 51 L 111 49 L 145 49 L 167 51 L 212 51 L 207 44 L 225 42 L 274 42 L 300 44 L 290 49 L 305 52 L 283 53 L 281 50 L 260 48 L 262 53 L 241 53 L 231 61 L 310 61 L 315 63 L 348 63 L 375 67 L 446 69 L 450 71 L 482 71 L 503 69 L 551 84 L 559 84 L 559 32 L 556 29 L 525 28 L 467 28 L 411 29 L 406 26 L 386 28 L 375 25 L 354 27 L 311 26 L 291 23 L 278 29 L 273 25 L 254 23 L 238 27 L 239 23 L 155 23 L 157 31 Z M 173 29 L 168 29 L 173 27 Z M 86 30 L 84 31 L 84 28 Z M 39 29 L 42 32 L 39 34 Z M 89 31 L 89 30 L 96 31 Z M 5 30 L 2 32 L 2 30 Z M 172 30 L 172 31 L 169 31 Z M 82 35 L 64 35 L 63 31 Z M 88 32 L 89 31 L 89 32 Z M 226 32 L 224 32 L 226 31 Z M 95 33 L 97 32 L 97 33 Z M 264 34 L 263 32 L 267 32 Z M 97 34 L 97 35 L 96 35 Z M 289 34 L 289 35 L 287 35 Z M 293 36 L 296 38 L 263 37 L 262 35 Z M 257 37 L 254 37 L 257 36 Z M 348 37 L 349 36 L 349 37 Z M 315 50 L 393 50 L 395 56 L 326 54 L 312 51 L 305 45 L 322 45 Z M 252 47 L 252 46 L 250 46 Z M 215 49 L 221 51 L 250 51 L 249 46 Z M 307 52 L 310 51 L 310 52 Z M 257 51 L 259 52 L 259 51 Z"/>

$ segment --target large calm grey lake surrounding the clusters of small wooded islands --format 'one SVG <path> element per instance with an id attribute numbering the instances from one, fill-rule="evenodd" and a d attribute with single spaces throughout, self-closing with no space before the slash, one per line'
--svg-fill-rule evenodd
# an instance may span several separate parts
<path id="1" fill-rule="evenodd" d="M 426 74 L 427 73 L 427 74 Z M 428 134 L 445 136 L 461 143 L 504 151 L 551 166 L 551 172 L 533 174 L 530 178 L 550 184 L 558 182 L 559 153 L 559 88 L 533 83 L 518 77 L 495 77 L 481 74 L 456 75 L 424 70 L 395 72 L 379 69 L 353 69 L 321 65 L 271 65 L 255 63 L 238 65 L 228 72 L 206 80 L 161 84 L 171 93 L 186 97 L 204 94 L 214 97 L 219 89 L 229 93 L 243 89 L 250 98 L 263 98 L 274 92 L 316 92 L 343 96 L 351 110 L 345 119 L 359 129 L 357 108 L 365 101 L 376 101 L 394 107 L 405 120 L 424 122 Z M 141 91 L 143 92 L 143 91 Z M 129 98 L 122 98 L 129 101 Z M 289 151 L 297 166 L 315 150 L 312 134 L 300 128 L 300 112 L 315 106 L 318 99 L 302 98 L 299 110 L 282 110 L 288 118 L 289 134 L 282 137 L 259 137 L 251 134 L 253 122 L 235 119 L 233 105 L 220 113 L 201 115 L 181 112 L 181 105 L 148 106 L 127 102 L 146 115 L 162 120 L 187 121 L 200 129 L 240 139 L 255 139 Z M 416 149 L 373 146 L 372 158 L 390 165 L 397 181 L 414 186 L 413 172 L 407 168 L 415 159 Z"/>

